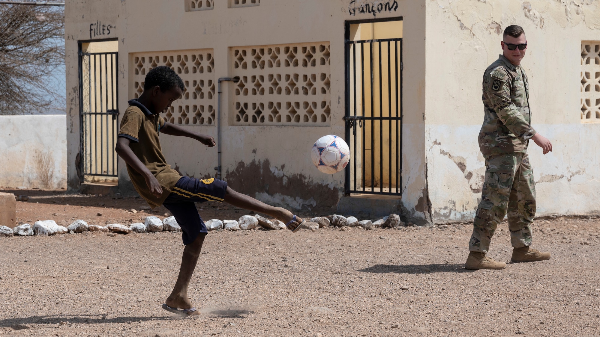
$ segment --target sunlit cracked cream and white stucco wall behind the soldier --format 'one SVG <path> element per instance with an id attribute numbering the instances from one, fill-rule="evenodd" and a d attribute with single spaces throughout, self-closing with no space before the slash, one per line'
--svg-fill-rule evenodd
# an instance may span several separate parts
<path id="1" fill-rule="evenodd" d="M 475 214 L 485 173 L 477 144 L 482 74 L 512 24 L 529 43 L 522 65 L 532 125 L 554 147 L 542 155 L 530 143 L 537 215 L 600 213 L 600 125 L 580 123 L 580 46 L 600 40 L 600 1 L 428 0 L 425 148 L 434 221 Z"/>

